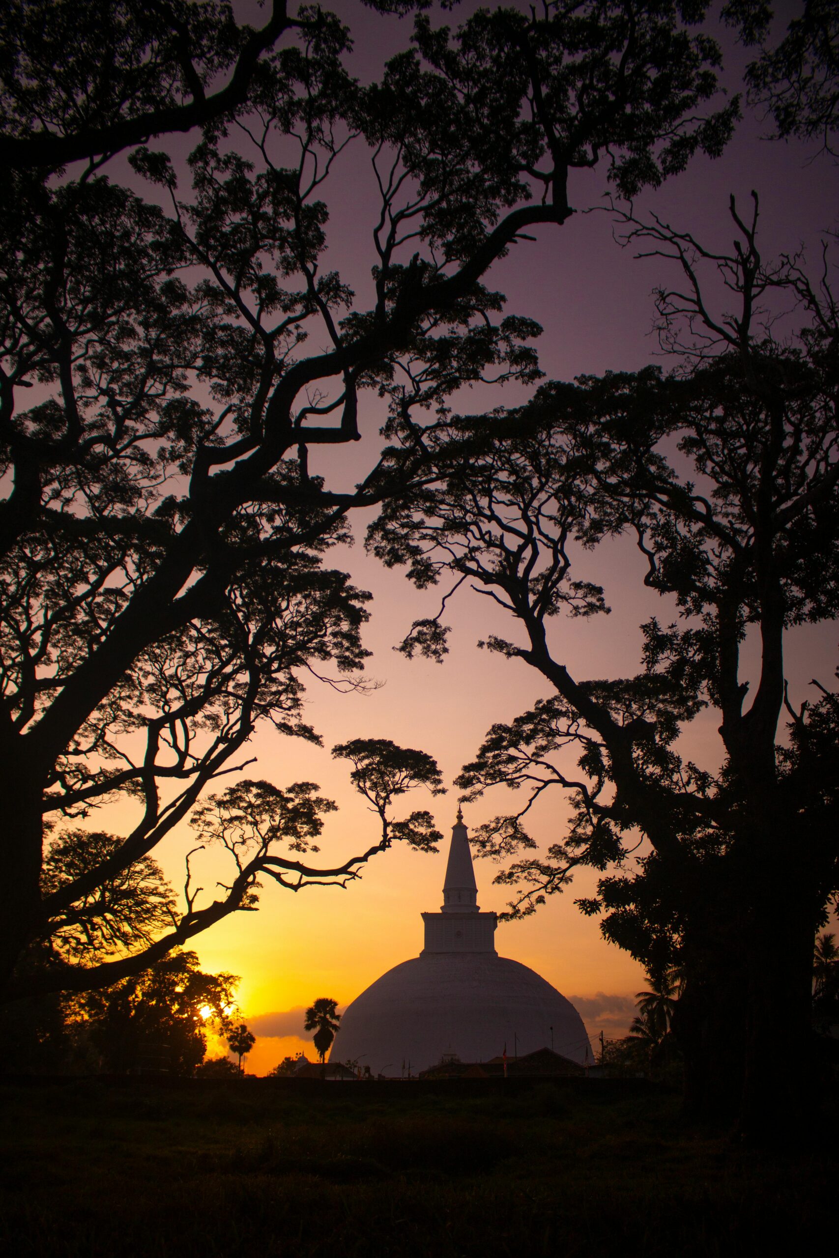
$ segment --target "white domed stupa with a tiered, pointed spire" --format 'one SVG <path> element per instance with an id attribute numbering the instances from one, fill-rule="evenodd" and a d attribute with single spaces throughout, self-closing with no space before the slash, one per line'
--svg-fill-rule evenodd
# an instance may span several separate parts
<path id="1" fill-rule="evenodd" d="M 582 1019 L 556 988 L 498 956 L 496 913 L 478 908 L 469 835 L 458 811 L 439 913 L 423 913 L 425 947 L 382 974 L 348 1005 L 330 1059 L 375 1074 L 428 1069 L 444 1054 L 462 1062 L 553 1048 L 594 1060 Z"/>

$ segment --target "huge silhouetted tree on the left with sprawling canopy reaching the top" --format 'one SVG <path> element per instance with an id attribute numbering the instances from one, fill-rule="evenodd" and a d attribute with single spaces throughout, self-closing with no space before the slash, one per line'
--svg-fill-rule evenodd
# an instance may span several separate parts
<path id="1" fill-rule="evenodd" d="M 351 682 L 365 657 L 367 595 L 326 559 L 424 449 L 395 478 L 371 458 L 352 492 L 311 452 L 358 439 L 364 389 L 436 408 L 535 379 L 537 326 L 481 277 L 569 219 L 576 169 L 603 157 L 631 195 L 720 151 L 737 106 L 703 112 L 718 50 L 681 20 L 703 11 L 586 0 L 481 10 L 457 33 L 420 16 L 361 87 L 347 29 L 309 6 L 275 4 L 260 31 L 199 0 L 3 8 L 5 995 L 138 974 L 273 876 L 263 850 L 148 946 L 36 982 L 21 967 L 242 767 L 259 722 L 316 737 L 303 679 L 332 664 Z M 184 162 L 167 136 L 189 127 Z M 347 146 L 379 187 L 370 306 L 323 265 Z M 118 848 L 44 893 L 44 814 L 126 798 Z"/>

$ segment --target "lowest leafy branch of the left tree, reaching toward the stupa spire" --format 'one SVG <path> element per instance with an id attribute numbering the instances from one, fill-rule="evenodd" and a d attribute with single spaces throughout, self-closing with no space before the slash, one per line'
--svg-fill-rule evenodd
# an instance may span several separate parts
<path id="1" fill-rule="evenodd" d="M 186 857 L 181 910 L 176 910 L 171 887 L 152 858 L 142 857 L 125 868 L 117 864 L 117 873 L 108 874 L 114 854 L 123 850 L 122 840 L 84 830 L 59 837 L 47 855 L 43 877 L 53 903 L 63 907 L 24 955 L 18 990 L 21 994 L 83 991 L 135 974 L 143 959 L 158 960 L 196 930 L 225 916 L 231 906 L 254 910 L 260 876 L 289 891 L 308 886 L 346 887 L 358 878 L 360 867 L 394 842 L 405 842 L 415 850 L 436 850 L 434 844 L 440 834 L 429 813 L 415 811 L 405 820 L 396 820 L 389 811 L 392 795 L 413 786 L 429 785 L 440 791 L 440 772 L 431 757 L 386 740 L 356 738 L 352 747 L 356 757 L 366 755 L 369 766 L 386 747 L 396 767 L 391 771 L 381 765 L 377 770 L 379 789 L 386 791 L 377 809 L 380 838 L 338 866 L 313 866 L 297 859 L 298 854 L 319 850 L 312 839 L 321 834 L 323 815 L 336 808 L 332 800 L 316 794 L 316 782 L 294 782 L 282 790 L 267 781 L 243 779 L 208 796 L 190 821 L 200 842 Z M 343 754 L 341 747 L 335 751 Z M 196 907 L 203 888 L 195 883 L 192 863 L 197 853 L 211 848 L 226 853 L 231 881 L 218 883 L 223 898 L 208 911 Z M 73 888 L 75 898 L 69 899 L 67 887 Z M 88 887 L 89 892 L 78 894 L 79 888 Z"/>

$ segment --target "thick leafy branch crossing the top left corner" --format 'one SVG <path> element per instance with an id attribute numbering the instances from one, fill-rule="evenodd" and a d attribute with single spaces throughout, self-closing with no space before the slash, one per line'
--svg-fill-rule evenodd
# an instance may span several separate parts
<path id="1" fill-rule="evenodd" d="M 292 16 L 284 0 L 257 30 L 206 0 L 9 0 L 3 164 L 55 171 L 226 121 L 249 106 L 277 42 L 317 25 L 316 9 Z"/>

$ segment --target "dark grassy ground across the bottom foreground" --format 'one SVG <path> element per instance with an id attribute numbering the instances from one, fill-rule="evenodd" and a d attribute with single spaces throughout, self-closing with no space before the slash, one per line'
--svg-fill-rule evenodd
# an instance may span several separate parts
<path id="1" fill-rule="evenodd" d="M 292 1082 L 306 1086 L 0 1087 L 0 1247 L 14 1258 L 834 1252 L 830 1122 L 821 1147 L 766 1154 L 686 1133 L 678 1099 L 645 1087 Z"/>

